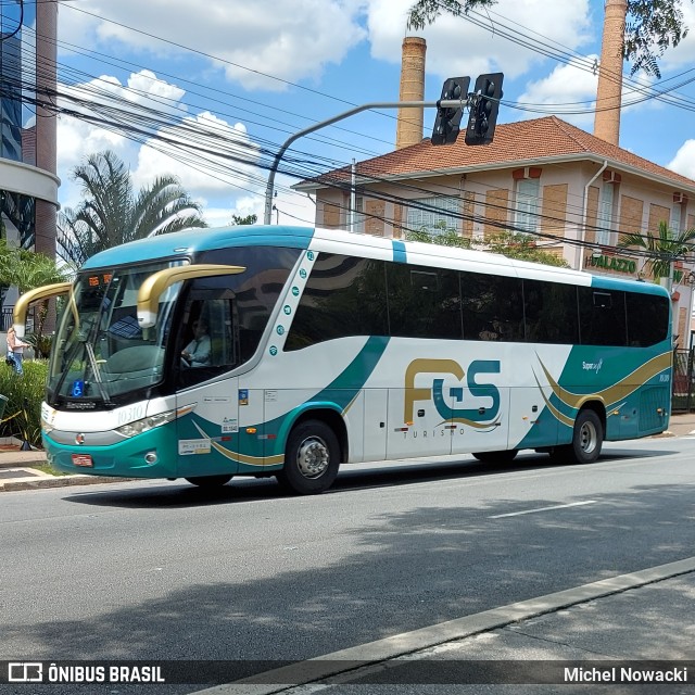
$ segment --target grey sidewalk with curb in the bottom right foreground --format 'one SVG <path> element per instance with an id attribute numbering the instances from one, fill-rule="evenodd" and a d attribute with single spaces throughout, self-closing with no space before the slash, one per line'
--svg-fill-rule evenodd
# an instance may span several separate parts
<path id="1" fill-rule="evenodd" d="M 687 557 L 192 693 L 442 692 L 425 690 L 434 684 L 467 695 L 558 692 L 554 685 L 595 693 L 623 684 L 610 692 L 675 695 L 695 683 L 694 601 L 695 557 Z"/>

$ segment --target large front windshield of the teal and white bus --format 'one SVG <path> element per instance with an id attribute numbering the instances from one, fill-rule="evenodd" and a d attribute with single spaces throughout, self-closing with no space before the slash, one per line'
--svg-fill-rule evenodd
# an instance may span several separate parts
<path id="1" fill-rule="evenodd" d="M 181 283 L 160 298 L 160 318 L 154 328 L 139 327 L 137 295 L 144 278 L 170 265 L 160 262 L 92 270 L 77 277 L 55 334 L 49 402 L 109 406 L 114 396 L 162 380 L 165 341 Z"/>

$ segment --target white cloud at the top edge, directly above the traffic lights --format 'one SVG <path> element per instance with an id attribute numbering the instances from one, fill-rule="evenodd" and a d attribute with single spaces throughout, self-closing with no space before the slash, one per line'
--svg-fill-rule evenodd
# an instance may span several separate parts
<path id="1" fill-rule="evenodd" d="M 368 25 L 372 55 L 401 61 L 401 45 L 412 0 L 368 0 Z M 472 14 L 486 28 L 465 17 L 442 14 L 417 35 L 427 39 L 427 72 L 441 77 L 502 71 L 508 78 L 527 73 L 545 60 L 501 35 L 515 31 L 538 41 L 577 49 L 587 40 L 589 0 L 500 0 L 489 12 Z M 506 25 L 503 28 L 502 24 Z M 536 34 L 533 34 L 536 33 Z M 548 37 L 552 37 L 548 38 Z"/>

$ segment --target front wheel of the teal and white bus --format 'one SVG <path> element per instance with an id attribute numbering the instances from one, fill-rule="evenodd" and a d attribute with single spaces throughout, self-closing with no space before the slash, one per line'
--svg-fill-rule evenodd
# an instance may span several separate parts
<path id="1" fill-rule="evenodd" d="M 290 433 L 280 485 L 295 495 L 315 495 L 328 490 L 338 476 L 340 446 L 333 430 L 320 420 L 306 420 Z"/>

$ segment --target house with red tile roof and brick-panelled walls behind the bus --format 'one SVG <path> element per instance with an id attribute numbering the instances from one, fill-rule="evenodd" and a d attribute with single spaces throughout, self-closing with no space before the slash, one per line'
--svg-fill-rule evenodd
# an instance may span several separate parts
<path id="1" fill-rule="evenodd" d="M 648 137 L 648 136 L 647 136 Z M 352 189 L 356 193 L 352 194 Z M 572 268 L 650 280 L 621 235 L 695 227 L 695 181 L 548 116 L 497 125 L 470 147 L 429 139 L 295 185 L 316 197 L 316 226 L 405 238 L 455 229 L 484 241 L 509 229 L 532 235 Z M 674 263 L 674 333 L 690 343 L 691 270 Z"/>

